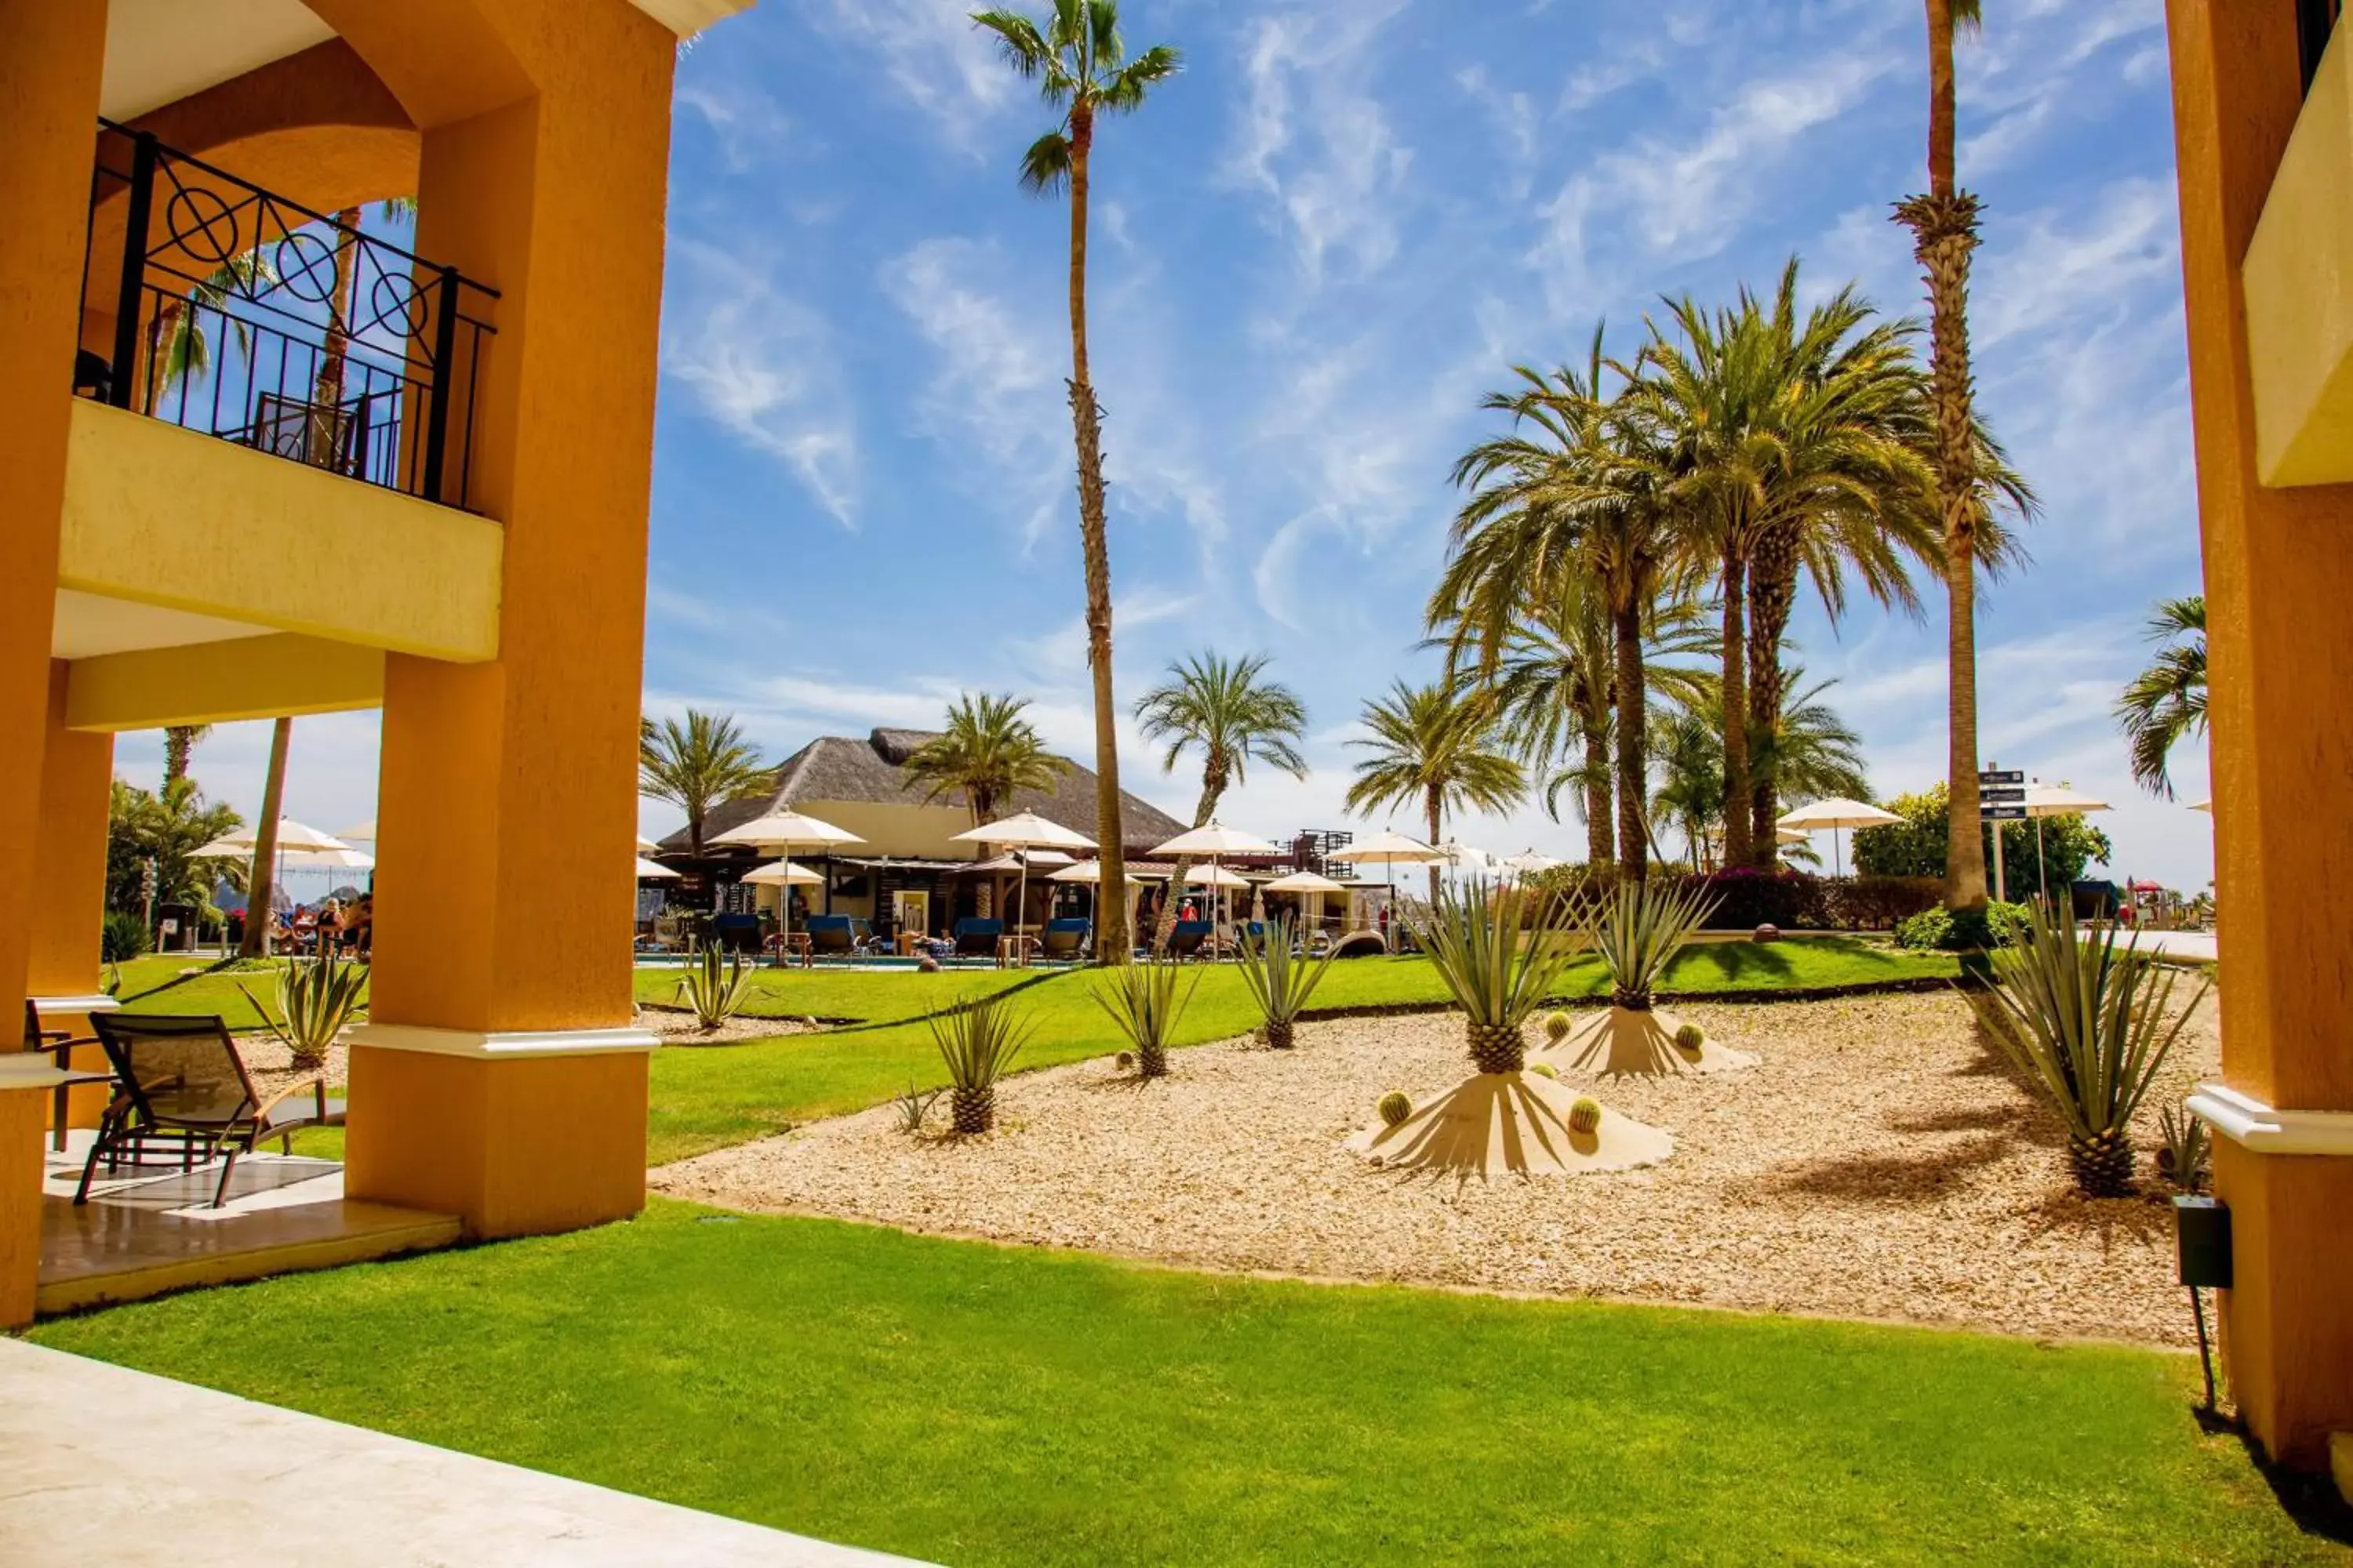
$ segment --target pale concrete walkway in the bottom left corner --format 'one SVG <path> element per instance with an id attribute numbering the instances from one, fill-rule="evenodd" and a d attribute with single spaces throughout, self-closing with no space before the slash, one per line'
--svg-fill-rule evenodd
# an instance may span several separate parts
<path id="1" fill-rule="evenodd" d="M 9 1568 L 878 1568 L 852 1552 L 0 1340 Z"/>

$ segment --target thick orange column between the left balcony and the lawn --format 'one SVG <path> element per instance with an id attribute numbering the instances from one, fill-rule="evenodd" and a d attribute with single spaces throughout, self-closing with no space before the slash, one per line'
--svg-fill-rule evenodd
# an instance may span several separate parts
<path id="1" fill-rule="evenodd" d="M 386 668 L 346 1147 L 351 1192 L 496 1237 L 645 1197 L 631 865 L 675 42 L 616 2 L 480 12 L 536 92 L 424 127 L 416 249 L 501 294 L 471 480 L 506 527 L 499 658 Z"/>

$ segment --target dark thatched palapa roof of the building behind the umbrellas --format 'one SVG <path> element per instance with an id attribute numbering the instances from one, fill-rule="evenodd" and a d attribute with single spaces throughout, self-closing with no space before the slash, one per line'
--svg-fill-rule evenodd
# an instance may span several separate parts
<path id="1" fill-rule="evenodd" d="M 769 811 L 809 811 L 812 816 L 824 816 L 814 806 L 828 799 L 965 811 L 962 792 L 925 799 L 925 788 L 906 773 L 906 759 L 932 738 L 936 738 L 934 731 L 922 729 L 875 729 L 864 741 L 854 736 L 819 736 L 776 766 L 776 790 L 772 795 L 713 806 L 704 820 L 704 839 L 708 842 Z M 1009 802 L 998 802 L 998 811 L 1002 816 L 1035 811 L 1049 823 L 1101 842 L 1104 835 L 1096 832 L 1094 811 L 1094 769 L 1085 769 L 1068 757 L 1064 762 L 1071 771 L 1061 776 L 1054 790 L 1014 790 Z M 1184 823 L 1148 799 L 1136 799 L 1127 790 L 1120 790 L 1120 839 L 1132 853 L 1174 839 L 1184 827 Z M 687 849 L 687 830 L 680 827 L 661 846 L 666 851 Z M 974 851 L 979 851 L 979 844 L 974 844 Z"/>

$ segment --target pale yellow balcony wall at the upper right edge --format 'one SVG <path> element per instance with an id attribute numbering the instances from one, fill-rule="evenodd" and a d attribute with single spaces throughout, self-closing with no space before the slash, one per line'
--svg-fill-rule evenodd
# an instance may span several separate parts
<path id="1" fill-rule="evenodd" d="M 2264 484 L 2353 482 L 2353 45 L 2337 28 L 2247 244 Z"/>

